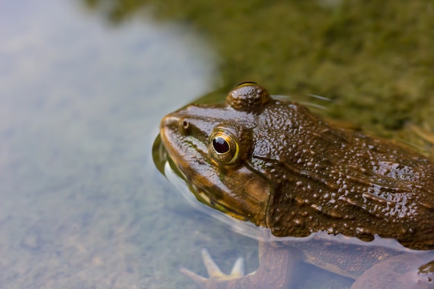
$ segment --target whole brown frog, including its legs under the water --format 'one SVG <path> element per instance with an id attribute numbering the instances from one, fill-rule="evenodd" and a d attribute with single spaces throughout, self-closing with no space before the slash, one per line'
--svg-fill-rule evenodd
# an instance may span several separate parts
<path id="1" fill-rule="evenodd" d="M 271 237 L 248 275 L 238 261 L 223 274 L 203 251 L 209 279 L 182 269 L 201 288 L 290 288 L 299 261 L 354 279 L 351 289 L 434 288 L 434 164 L 418 152 L 255 82 L 168 114 L 159 136 L 199 202 Z"/>

